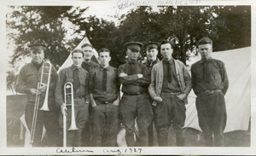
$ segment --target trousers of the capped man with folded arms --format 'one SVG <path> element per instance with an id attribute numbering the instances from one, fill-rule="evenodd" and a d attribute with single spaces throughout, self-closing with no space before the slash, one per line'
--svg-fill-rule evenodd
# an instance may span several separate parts
<path id="1" fill-rule="evenodd" d="M 125 139 L 129 147 L 136 145 L 134 139 L 135 119 L 139 131 L 138 146 L 148 146 L 148 126 L 153 113 L 148 94 L 123 95 L 120 101 L 121 121 L 125 125 Z"/>

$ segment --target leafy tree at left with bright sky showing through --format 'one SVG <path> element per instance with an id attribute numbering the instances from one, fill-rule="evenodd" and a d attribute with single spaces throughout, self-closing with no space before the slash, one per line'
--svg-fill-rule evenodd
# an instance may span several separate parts
<path id="1" fill-rule="evenodd" d="M 27 48 L 29 43 L 41 41 L 47 45 L 45 57 L 54 65 L 61 65 L 76 45 L 72 42 L 73 39 L 67 39 L 67 28 L 65 28 L 68 18 L 73 16 L 68 11 L 73 7 L 21 6 L 11 8 L 13 12 L 7 14 L 9 46 L 15 45 L 15 54 L 12 56 L 11 63 L 14 65 L 20 56 L 29 55 Z"/>

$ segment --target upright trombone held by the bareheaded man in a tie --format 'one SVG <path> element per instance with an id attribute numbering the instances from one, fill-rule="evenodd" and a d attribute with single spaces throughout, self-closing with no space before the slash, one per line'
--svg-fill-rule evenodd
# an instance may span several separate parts
<path id="1" fill-rule="evenodd" d="M 72 83 L 64 84 L 64 95 L 64 107 L 71 106 L 71 125 L 68 130 L 79 130 L 75 119 Z M 63 113 L 63 147 L 67 147 L 67 113 Z"/>

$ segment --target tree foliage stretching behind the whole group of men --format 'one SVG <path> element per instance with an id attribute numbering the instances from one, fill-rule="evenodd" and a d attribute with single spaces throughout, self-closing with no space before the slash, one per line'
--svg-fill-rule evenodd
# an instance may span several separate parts
<path id="1" fill-rule="evenodd" d="M 183 63 L 189 55 L 197 53 L 196 41 L 202 37 L 212 38 L 214 51 L 251 46 L 250 6 L 168 6 L 159 7 L 159 11 L 137 7 L 121 15 L 119 24 L 86 16 L 89 7 L 19 6 L 9 9 L 6 22 L 9 47 L 14 49 L 12 66 L 22 56 L 29 55 L 27 45 L 35 40 L 46 43 L 46 57 L 55 66 L 61 66 L 85 35 L 96 50 L 106 47 L 112 51 L 111 65 L 116 67 L 125 62 L 124 43 L 128 41 L 172 40 L 175 43 L 173 57 Z M 12 81 L 12 74 L 8 72 L 8 81 Z"/>

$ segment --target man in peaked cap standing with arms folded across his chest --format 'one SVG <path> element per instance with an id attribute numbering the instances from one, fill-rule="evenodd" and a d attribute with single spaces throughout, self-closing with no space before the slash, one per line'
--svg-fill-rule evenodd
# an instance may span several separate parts
<path id="1" fill-rule="evenodd" d="M 129 147 L 135 146 L 135 119 L 139 130 L 139 146 L 148 146 L 148 126 L 153 113 L 149 102 L 148 84 L 150 72 L 148 67 L 137 61 L 143 44 L 125 43 L 128 61 L 119 66 L 119 81 L 123 84 L 124 95 L 120 101 L 122 123 L 125 125 L 125 138 Z"/>

